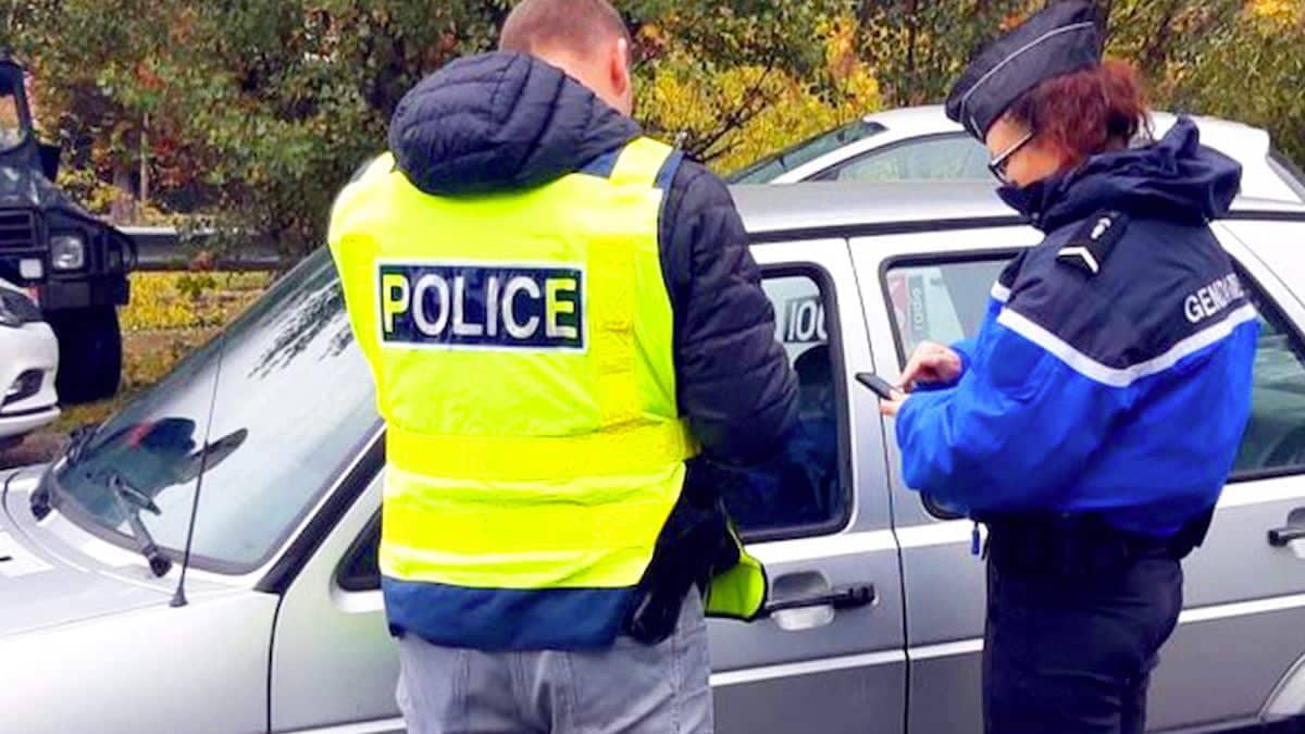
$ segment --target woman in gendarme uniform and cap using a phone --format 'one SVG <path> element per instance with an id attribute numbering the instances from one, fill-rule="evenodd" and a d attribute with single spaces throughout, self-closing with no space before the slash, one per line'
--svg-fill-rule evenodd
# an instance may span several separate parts
<path id="1" fill-rule="evenodd" d="M 1250 411 L 1257 316 L 1207 222 L 1241 171 L 1146 110 L 1101 61 L 1095 9 L 1058 3 L 983 52 L 947 114 L 1045 232 L 975 340 L 925 345 L 886 401 L 911 487 L 989 529 L 988 731 L 1141 733 Z"/>

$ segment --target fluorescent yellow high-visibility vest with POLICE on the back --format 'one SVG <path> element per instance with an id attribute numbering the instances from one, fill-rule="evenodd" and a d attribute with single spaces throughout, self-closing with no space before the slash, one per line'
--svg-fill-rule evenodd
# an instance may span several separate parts
<path id="1" fill-rule="evenodd" d="M 388 423 L 386 579 L 639 581 L 697 453 L 658 246 L 671 154 L 639 138 L 606 178 L 470 197 L 382 157 L 341 195 L 331 251 Z M 760 606 L 743 585 L 729 615 Z"/>

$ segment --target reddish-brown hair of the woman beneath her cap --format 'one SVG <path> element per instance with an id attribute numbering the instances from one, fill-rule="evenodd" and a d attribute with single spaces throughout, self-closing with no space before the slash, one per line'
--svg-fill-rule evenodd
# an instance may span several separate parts
<path id="1" fill-rule="evenodd" d="M 1150 132 L 1142 77 L 1117 59 L 1044 81 L 1017 99 L 1007 115 L 1071 166 L 1126 146 L 1141 129 Z"/>

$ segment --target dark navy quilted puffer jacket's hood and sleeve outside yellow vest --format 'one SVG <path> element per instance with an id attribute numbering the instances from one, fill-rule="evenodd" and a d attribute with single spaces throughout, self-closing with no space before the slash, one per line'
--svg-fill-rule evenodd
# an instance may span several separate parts
<path id="1" fill-rule="evenodd" d="M 390 150 L 422 191 L 536 187 L 585 168 L 639 127 L 557 68 L 519 54 L 457 60 L 403 98 Z M 675 311 L 680 411 L 709 457 L 750 464 L 795 422 L 797 384 L 724 184 L 680 165 L 659 225 Z"/>

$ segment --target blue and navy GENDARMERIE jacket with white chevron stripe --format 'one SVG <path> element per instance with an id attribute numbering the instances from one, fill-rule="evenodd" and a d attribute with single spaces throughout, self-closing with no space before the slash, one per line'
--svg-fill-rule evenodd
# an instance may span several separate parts
<path id="1" fill-rule="evenodd" d="M 1181 120 L 1147 148 L 1004 189 L 1047 238 L 957 345 L 960 379 L 906 401 L 906 483 L 976 519 L 1098 512 L 1152 537 L 1212 507 L 1250 414 L 1259 329 L 1207 225 L 1240 180 Z"/>

